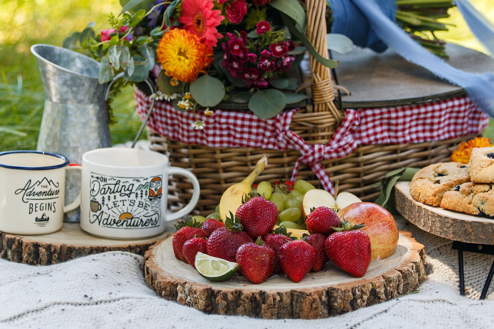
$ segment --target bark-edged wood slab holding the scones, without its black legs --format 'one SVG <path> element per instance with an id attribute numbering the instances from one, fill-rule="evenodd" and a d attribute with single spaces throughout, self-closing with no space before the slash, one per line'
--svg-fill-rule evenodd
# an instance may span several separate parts
<path id="1" fill-rule="evenodd" d="M 395 187 L 396 210 L 418 228 L 454 241 L 494 245 L 494 219 L 418 202 L 410 195 L 410 182 Z"/>

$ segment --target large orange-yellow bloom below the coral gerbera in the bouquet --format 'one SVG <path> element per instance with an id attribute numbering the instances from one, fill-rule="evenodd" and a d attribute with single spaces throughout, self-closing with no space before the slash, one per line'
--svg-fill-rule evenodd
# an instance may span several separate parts
<path id="1" fill-rule="evenodd" d="M 199 37 L 183 29 L 166 32 L 156 50 L 165 74 L 184 82 L 192 82 L 213 60 L 210 48 Z"/>

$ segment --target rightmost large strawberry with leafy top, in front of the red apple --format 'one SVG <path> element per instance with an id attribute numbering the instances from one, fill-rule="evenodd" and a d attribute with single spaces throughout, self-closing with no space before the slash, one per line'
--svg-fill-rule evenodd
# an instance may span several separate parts
<path id="1" fill-rule="evenodd" d="M 336 233 L 329 235 L 324 244 L 334 265 L 357 278 L 366 274 L 371 262 L 371 239 L 359 230 L 364 226 L 344 221 L 340 227 L 333 227 Z"/>

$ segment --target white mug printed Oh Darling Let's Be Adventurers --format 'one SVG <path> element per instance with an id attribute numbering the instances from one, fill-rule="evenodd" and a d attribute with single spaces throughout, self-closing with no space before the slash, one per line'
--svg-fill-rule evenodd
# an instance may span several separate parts
<path id="1" fill-rule="evenodd" d="M 167 213 L 168 175 L 194 186 L 185 208 Z M 189 214 L 199 200 L 190 171 L 170 167 L 165 155 L 135 148 L 98 148 L 82 155 L 81 228 L 93 235 L 137 239 L 163 233 L 166 222 Z"/>

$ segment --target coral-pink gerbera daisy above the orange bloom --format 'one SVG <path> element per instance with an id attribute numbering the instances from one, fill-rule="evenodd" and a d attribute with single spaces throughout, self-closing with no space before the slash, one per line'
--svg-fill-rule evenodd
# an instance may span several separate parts
<path id="1" fill-rule="evenodd" d="M 196 34 L 200 41 L 211 48 L 223 37 L 216 26 L 225 19 L 220 15 L 220 10 L 211 10 L 213 6 L 213 0 L 183 0 L 182 13 L 178 17 L 185 30 Z"/>

